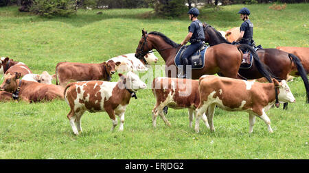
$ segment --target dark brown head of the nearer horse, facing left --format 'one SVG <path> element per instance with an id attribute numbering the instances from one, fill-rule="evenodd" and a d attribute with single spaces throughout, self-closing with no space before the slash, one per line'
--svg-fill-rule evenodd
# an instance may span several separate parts
<path id="1" fill-rule="evenodd" d="M 137 46 L 135 57 L 137 59 L 144 59 L 146 63 L 145 55 L 152 50 L 152 45 L 147 42 L 148 33 L 144 29 L 141 30 L 141 40 L 139 40 L 139 45 Z M 147 64 L 147 63 L 146 63 Z"/>

